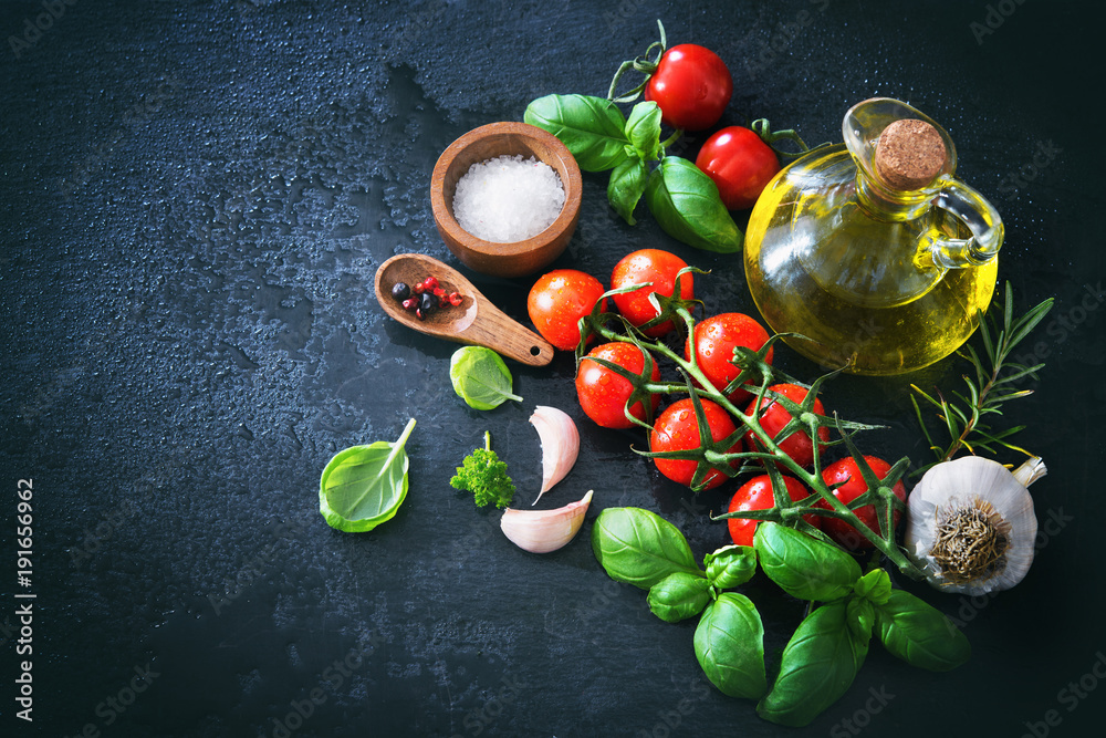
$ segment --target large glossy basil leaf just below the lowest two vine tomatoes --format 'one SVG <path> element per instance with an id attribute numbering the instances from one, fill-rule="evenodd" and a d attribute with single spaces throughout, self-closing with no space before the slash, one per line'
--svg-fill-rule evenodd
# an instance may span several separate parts
<path id="1" fill-rule="evenodd" d="M 860 578 L 860 565 L 836 545 L 768 520 L 757 526 L 753 548 L 769 579 L 800 600 L 837 600 Z"/>

